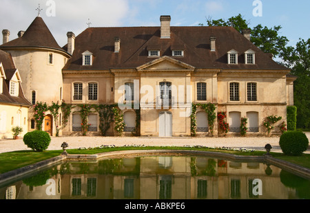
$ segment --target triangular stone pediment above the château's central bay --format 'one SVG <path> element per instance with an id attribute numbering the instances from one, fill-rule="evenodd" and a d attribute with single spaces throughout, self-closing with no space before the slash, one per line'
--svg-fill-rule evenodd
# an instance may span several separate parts
<path id="1" fill-rule="evenodd" d="M 163 56 L 152 60 L 149 63 L 141 65 L 136 68 L 138 71 L 194 71 L 195 67 L 187 65 L 186 63 L 170 58 L 168 56 Z"/>

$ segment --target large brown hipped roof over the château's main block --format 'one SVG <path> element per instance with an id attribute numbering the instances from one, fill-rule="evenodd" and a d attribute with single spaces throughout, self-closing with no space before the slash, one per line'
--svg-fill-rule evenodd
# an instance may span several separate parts
<path id="1" fill-rule="evenodd" d="M 120 38 L 121 50 L 114 52 L 114 38 Z M 216 52 L 211 52 L 210 38 L 216 37 Z M 66 49 L 67 45 L 63 47 Z M 227 63 L 227 52 L 236 49 L 238 65 Z M 256 64 L 245 64 L 245 52 L 256 53 Z M 94 54 L 92 66 L 83 67 L 82 54 Z M 171 38 L 161 38 L 161 27 L 89 27 L 75 39 L 72 58 L 63 68 L 126 69 L 151 62 L 149 50 L 160 50 L 161 57 L 169 56 L 196 68 L 216 69 L 281 69 L 270 56 L 256 47 L 234 27 L 171 27 Z M 184 50 L 184 56 L 172 56 L 172 50 Z"/>

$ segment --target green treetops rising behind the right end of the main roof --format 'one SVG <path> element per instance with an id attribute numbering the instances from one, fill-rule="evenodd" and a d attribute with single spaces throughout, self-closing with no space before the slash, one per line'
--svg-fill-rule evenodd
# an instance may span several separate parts
<path id="1" fill-rule="evenodd" d="M 249 27 L 249 21 L 245 20 L 241 14 L 238 16 L 232 16 L 227 20 L 218 19 L 212 20 L 211 17 L 207 18 L 207 25 L 209 26 L 231 26 L 238 32 L 242 33 L 242 30 L 251 29 L 251 42 L 260 48 L 263 52 L 271 53 L 277 57 L 282 53 L 282 49 L 285 48 L 289 40 L 285 36 L 280 36 L 280 30 L 282 27 L 274 26 L 271 28 L 263 27 L 261 24 L 256 27 Z M 203 26 L 203 24 L 200 24 Z"/>

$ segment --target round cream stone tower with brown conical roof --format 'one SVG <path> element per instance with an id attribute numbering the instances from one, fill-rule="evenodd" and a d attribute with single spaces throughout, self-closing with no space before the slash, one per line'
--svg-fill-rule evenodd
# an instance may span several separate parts
<path id="1" fill-rule="evenodd" d="M 4 31 L 3 31 L 4 32 Z M 71 54 L 61 48 L 45 25 L 41 16 L 37 16 L 25 32 L 19 32 L 19 38 L 0 46 L 12 55 L 14 63 L 22 78 L 25 98 L 33 105 L 37 102 L 60 102 L 63 96 L 62 69 Z M 3 35 L 4 36 L 4 35 Z M 57 126 L 52 115 L 43 122 L 43 130 L 55 135 Z M 34 130 L 34 111 L 29 111 L 29 130 Z M 48 117 L 49 116 L 49 117 Z M 50 126 L 47 126 L 49 124 Z M 48 128 L 48 129 L 47 129 Z"/>

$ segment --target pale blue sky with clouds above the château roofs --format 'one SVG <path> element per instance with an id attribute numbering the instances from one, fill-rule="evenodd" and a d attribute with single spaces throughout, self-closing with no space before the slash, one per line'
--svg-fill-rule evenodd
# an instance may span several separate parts
<path id="1" fill-rule="evenodd" d="M 281 25 L 280 35 L 287 36 L 295 45 L 299 38 L 310 38 L 310 1 L 260 0 L 262 16 L 254 16 L 254 0 L 1 0 L 0 30 L 11 32 L 10 40 L 17 38 L 19 30 L 26 30 L 37 16 L 50 28 L 59 45 L 65 45 L 68 31 L 80 34 L 87 27 L 107 26 L 159 26 L 161 15 L 172 16 L 174 26 L 206 25 L 206 18 L 229 19 L 242 14 L 250 27 L 259 23 L 273 27 Z M 55 15 L 48 16 L 50 2 L 55 4 Z"/>

